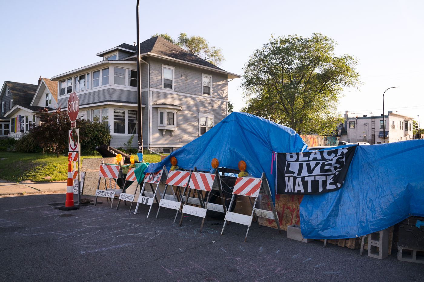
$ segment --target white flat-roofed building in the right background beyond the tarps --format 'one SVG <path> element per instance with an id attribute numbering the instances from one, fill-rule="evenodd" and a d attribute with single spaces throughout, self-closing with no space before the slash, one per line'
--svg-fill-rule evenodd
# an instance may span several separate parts
<path id="1" fill-rule="evenodd" d="M 346 111 L 344 128 L 341 130 L 340 141 L 350 143 L 368 142 L 369 144 L 383 143 L 383 115 L 356 116 Z M 409 116 L 388 111 L 385 119 L 386 143 L 413 139 L 412 120 Z"/>

